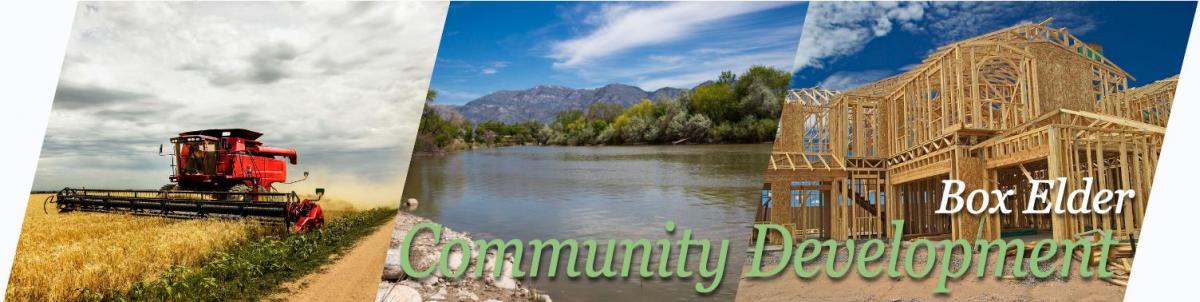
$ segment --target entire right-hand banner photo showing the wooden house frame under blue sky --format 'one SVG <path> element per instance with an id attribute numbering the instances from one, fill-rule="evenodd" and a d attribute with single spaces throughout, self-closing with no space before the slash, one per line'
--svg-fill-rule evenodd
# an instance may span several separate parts
<path id="1" fill-rule="evenodd" d="M 1194 11 L 811 5 L 738 300 L 1121 300 Z"/>

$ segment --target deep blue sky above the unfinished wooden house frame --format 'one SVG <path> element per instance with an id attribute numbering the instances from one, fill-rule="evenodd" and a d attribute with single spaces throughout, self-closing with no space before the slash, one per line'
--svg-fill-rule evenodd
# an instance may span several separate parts
<path id="1" fill-rule="evenodd" d="M 1195 2 L 815 2 L 792 86 L 858 86 L 919 64 L 954 41 L 1054 17 L 1104 47 L 1141 86 L 1180 72 Z"/>

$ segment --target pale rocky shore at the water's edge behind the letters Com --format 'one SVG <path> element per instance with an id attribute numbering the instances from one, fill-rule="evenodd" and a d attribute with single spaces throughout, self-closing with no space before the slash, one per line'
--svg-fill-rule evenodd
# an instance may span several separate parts
<path id="1" fill-rule="evenodd" d="M 415 207 L 415 204 L 413 206 Z M 384 266 L 383 278 L 379 282 L 379 291 L 376 295 L 376 301 L 551 301 L 550 296 L 538 294 L 536 290 L 528 289 L 520 280 L 512 278 L 512 259 L 509 255 L 499 258 L 505 261 L 499 278 L 491 277 L 493 267 L 496 267 L 494 261 L 498 259 L 494 252 L 488 252 L 486 255 L 484 277 L 472 278 L 470 272 L 478 265 L 474 259 L 478 259 L 479 250 L 475 249 L 475 244 L 469 235 L 450 230 L 449 228 L 443 228 L 442 242 L 451 238 L 464 238 L 473 242 L 470 250 L 472 261 L 469 264 L 463 264 L 460 260 L 462 259 L 461 252 L 454 252 L 448 260 L 450 261 L 449 266 L 451 270 L 458 270 L 462 265 L 467 265 L 468 273 L 462 278 L 445 278 L 434 270 L 433 274 L 426 278 L 418 279 L 406 276 L 400 266 L 401 243 L 409 229 L 426 222 L 430 221 L 403 211 L 396 213 L 396 225 L 394 226 L 391 242 L 389 243 L 388 260 Z M 427 234 L 418 236 L 410 244 L 412 254 L 409 255 L 413 268 L 424 271 L 431 266 L 436 266 L 438 259 L 442 256 L 442 244 L 434 244 L 432 236 Z"/>

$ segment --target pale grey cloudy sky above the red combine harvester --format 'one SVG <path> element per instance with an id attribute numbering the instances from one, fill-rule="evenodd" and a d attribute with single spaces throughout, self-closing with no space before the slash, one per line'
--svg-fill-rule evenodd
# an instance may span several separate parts
<path id="1" fill-rule="evenodd" d="M 158 188 L 158 144 L 250 128 L 331 197 L 398 200 L 445 2 L 88 2 L 35 189 Z"/>

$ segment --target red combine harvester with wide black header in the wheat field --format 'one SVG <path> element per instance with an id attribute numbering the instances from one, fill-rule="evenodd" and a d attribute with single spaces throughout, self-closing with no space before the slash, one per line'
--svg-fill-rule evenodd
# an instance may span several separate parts
<path id="1" fill-rule="evenodd" d="M 60 212 L 130 212 L 167 217 L 260 218 L 286 223 L 295 231 L 325 223 L 316 199 L 295 192 L 280 193 L 287 182 L 287 163 L 296 164 L 296 151 L 270 147 L 248 129 L 203 129 L 179 133 L 174 145 L 169 185 L 160 191 L 64 188 L 55 195 Z M 162 145 L 158 153 L 162 153 Z M 287 162 L 284 162 L 287 159 Z"/>

